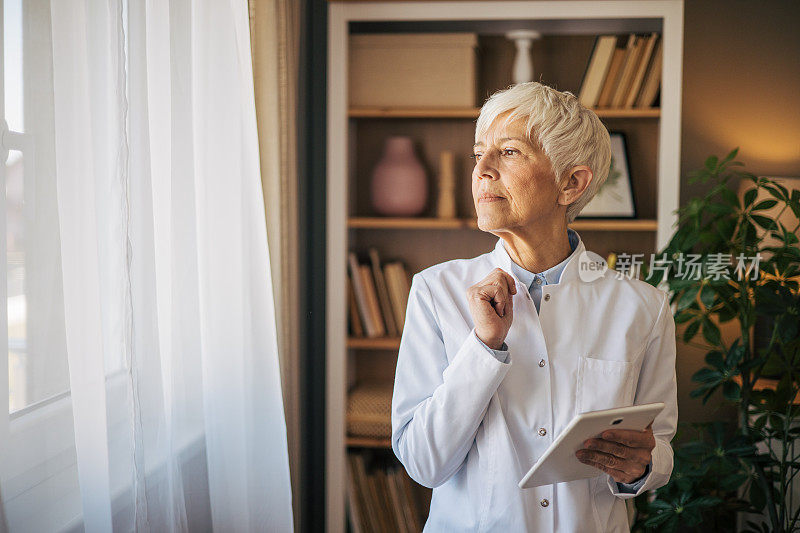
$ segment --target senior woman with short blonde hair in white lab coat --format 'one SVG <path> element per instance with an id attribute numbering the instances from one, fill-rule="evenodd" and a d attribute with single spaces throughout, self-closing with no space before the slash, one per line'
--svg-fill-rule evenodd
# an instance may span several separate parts
<path id="1" fill-rule="evenodd" d="M 677 424 L 667 295 L 587 260 L 568 224 L 610 167 L 609 134 L 569 92 L 495 93 L 475 132 L 472 196 L 488 253 L 414 275 L 392 449 L 433 488 L 425 531 L 628 531 L 625 498 L 664 485 Z M 589 439 L 592 479 L 518 482 L 580 412 L 664 402 L 645 431 Z"/>

